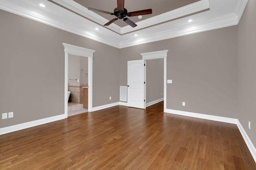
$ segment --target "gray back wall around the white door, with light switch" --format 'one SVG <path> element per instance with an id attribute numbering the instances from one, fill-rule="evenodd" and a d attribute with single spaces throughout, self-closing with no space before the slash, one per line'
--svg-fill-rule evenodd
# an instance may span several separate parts
<path id="1" fill-rule="evenodd" d="M 128 60 L 165 49 L 167 79 L 173 80 L 167 85 L 167 109 L 238 116 L 237 26 L 121 49 L 120 85 L 127 85 Z"/>

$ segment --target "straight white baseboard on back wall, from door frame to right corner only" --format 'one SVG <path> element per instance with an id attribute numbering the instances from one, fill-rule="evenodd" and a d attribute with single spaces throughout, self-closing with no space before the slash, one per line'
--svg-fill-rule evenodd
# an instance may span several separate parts
<path id="1" fill-rule="evenodd" d="M 205 115 L 205 114 L 201 114 L 201 113 L 177 111 L 177 110 L 172 110 L 172 109 L 166 109 L 166 113 L 172 113 L 172 114 L 175 114 L 175 115 L 196 117 L 196 118 L 200 118 L 200 119 L 207 119 L 207 120 L 211 120 L 211 121 L 219 121 L 219 122 L 232 123 L 232 124 L 237 123 L 237 119 L 228 118 L 228 117 L 214 116 L 214 115 Z"/>

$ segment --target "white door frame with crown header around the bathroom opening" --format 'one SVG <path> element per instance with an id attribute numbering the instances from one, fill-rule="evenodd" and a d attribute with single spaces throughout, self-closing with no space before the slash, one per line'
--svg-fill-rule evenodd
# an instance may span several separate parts
<path id="1" fill-rule="evenodd" d="M 64 45 L 65 52 L 65 89 L 64 89 L 64 115 L 68 117 L 68 55 L 79 55 L 82 57 L 88 57 L 88 111 L 92 111 L 92 57 L 95 52 L 92 49 L 78 47 L 67 43 Z"/>

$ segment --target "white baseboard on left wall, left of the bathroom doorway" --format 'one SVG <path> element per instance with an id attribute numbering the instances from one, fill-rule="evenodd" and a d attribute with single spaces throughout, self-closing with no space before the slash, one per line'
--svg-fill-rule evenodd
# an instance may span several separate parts
<path id="1" fill-rule="evenodd" d="M 10 127 L 0 128 L 0 135 L 10 133 L 10 132 L 14 132 L 14 131 L 17 131 L 17 130 L 22 130 L 22 129 L 25 129 L 25 128 L 35 127 L 35 126 L 42 125 L 42 124 L 45 124 L 45 123 L 58 121 L 58 120 L 61 120 L 61 119 L 65 119 L 64 114 L 53 116 L 53 117 L 47 117 L 47 118 L 39 119 L 39 120 L 36 120 L 36 121 L 21 123 L 21 124 L 13 125 L 13 126 L 10 126 Z"/>

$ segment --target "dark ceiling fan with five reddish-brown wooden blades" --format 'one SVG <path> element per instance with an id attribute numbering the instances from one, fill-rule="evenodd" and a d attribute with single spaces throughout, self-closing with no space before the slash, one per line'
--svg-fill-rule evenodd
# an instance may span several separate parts
<path id="1" fill-rule="evenodd" d="M 112 24 L 113 22 L 115 22 L 118 19 L 124 19 L 124 22 L 126 22 L 127 24 L 129 24 L 131 27 L 136 27 L 137 25 L 132 22 L 132 20 L 125 18 L 126 16 L 139 16 L 139 15 L 147 15 L 147 14 L 152 14 L 152 9 L 148 9 L 148 10 L 141 10 L 141 11 L 134 11 L 134 12 L 128 12 L 125 8 L 124 8 L 124 0 L 117 0 L 117 8 L 114 9 L 114 13 L 112 12 L 107 12 L 107 11 L 102 11 L 102 10 L 97 10 L 94 8 L 88 8 L 88 10 L 94 11 L 94 12 L 101 12 L 104 14 L 110 14 L 110 15 L 114 15 L 117 18 L 114 18 L 113 20 L 111 20 L 110 22 L 106 23 L 104 26 L 109 26 L 110 24 Z"/>

